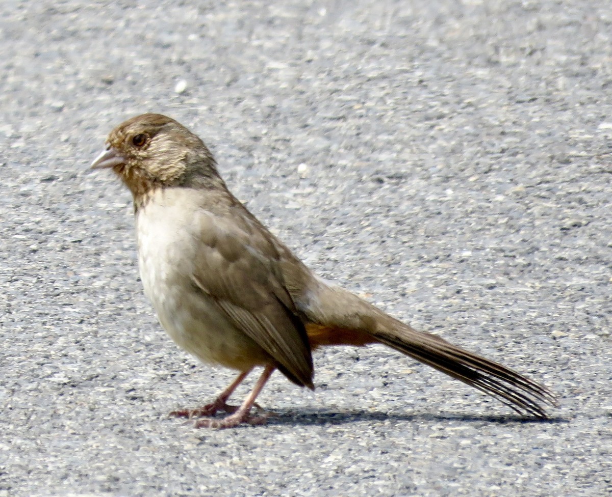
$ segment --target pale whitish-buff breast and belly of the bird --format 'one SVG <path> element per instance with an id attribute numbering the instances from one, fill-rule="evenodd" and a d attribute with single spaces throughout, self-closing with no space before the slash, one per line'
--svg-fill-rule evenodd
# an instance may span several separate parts
<path id="1" fill-rule="evenodd" d="M 184 193 L 184 192 L 182 192 Z M 193 285 L 194 261 L 203 250 L 193 232 L 194 216 L 185 195 L 159 190 L 136 214 L 138 264 L 144 293 L 174 342 L 206 363 L 245 370 L 265 364 L 269 356 L 229 322 Z M 205 237 L 204 237 L 205 238 Z"/>

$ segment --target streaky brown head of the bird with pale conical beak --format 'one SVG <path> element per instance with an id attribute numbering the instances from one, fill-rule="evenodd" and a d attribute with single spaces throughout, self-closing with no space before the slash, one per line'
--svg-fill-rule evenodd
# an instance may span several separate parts
<path id="1" fill-rule="evenodd" d="M 91 168 L 113 169 L 135 201 L 156 188 L 218 179 L 215 160 L 203 141 L 162 114 L 142 114 L 114 128 Z"/>

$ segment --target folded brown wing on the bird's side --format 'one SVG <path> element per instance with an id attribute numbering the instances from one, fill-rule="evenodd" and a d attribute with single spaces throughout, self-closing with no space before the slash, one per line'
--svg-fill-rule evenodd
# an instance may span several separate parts
<path id="1" fill-rule="evenodd" d="M 271 236 L 248 215 L 199 211 L 194 284 L 272 358 L 289 380 L 312 388 L 313 364 L 304 323 L 283 282 Z"/>

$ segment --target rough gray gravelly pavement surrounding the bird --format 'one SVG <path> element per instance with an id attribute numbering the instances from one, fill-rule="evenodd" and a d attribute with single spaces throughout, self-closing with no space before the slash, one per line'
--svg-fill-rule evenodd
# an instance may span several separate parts
<path id="1" fill-rule="evenodd" d="M 0 497 L 612 492 L 608 0 L 2 0 L 0 40 Z M 267 426 L 168 419 L 233 373 L 166 337 L 130 195 L 88 171 L 145 111 L 319 274 L 551 386 L 553 419 L 383 347 L 318 353 L 315 394 L 275 375 Z"/>

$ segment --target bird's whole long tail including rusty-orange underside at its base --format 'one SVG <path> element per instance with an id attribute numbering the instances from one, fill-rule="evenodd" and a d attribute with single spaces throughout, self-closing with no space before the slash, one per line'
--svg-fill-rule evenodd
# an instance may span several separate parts
<path id="1" fill-rule="evenodd" d="M 319 298 L 308 307 L 313 348 L 379 342 L 496 397 L 519 414 L 546 419 L 545 406 L 557 405 L 553 392 L 509 367 L 416 331 L 339 287 L 322 285 L 317 290 Z"/>

